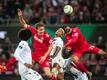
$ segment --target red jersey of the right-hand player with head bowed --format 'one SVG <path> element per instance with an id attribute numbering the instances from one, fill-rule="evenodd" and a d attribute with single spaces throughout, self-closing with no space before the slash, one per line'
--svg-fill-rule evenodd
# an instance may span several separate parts
<path id="1" fill-rule="evenodd" d="M 66 34 L 66 45 L 71 46 L 73 50 L 81 50 L 87 46 L 89 46 L 88 42 L 85 40 L 84 36 L 81 34 L 78 28 L 71 28 L 72 32 L 70 34 Z"/>

